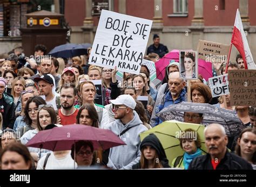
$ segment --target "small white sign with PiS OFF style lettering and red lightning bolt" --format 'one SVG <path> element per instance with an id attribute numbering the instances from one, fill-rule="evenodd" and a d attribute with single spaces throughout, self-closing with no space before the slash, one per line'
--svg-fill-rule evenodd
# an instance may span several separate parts
<path id="1" fill-rule="evenodd" d="M 228 89 L 228 74 L 209 78 L 212 97 L 218 97 L 230 93 Z"/>

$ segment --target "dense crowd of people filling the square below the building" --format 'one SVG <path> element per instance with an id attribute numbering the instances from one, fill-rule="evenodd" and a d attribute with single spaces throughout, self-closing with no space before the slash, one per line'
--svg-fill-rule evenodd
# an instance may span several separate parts
<path id="1" fill-rule="evenodd" d="M 156 62 L 168 49 L 160 44 L 158 35 L 153 40 L 145 59 Z M 150 70 L 145 65 L 138 75 L 124 73 L 119 82 L 116 68 L 87 63 L 90 51 L 88 48 L 86 55 L 71 59 L 56 59 L 45 57 L 46 47 L 37 45 L 35 59 L 25 57 L 22 47 L 2 55 L 1 169 L 256 169 L 255 106 L 231 106 L 229 94 L 213 98 L 201 75 L 188 88 L 180 77 L 179 62 L 166 67 L 159 87 L 150 82 Z M 185 64 L 192 63 L 189 58 L 187 54 Z M 226 64 L 213 63 L 217 75 L 224 74 L 225 67 Z M 238 55 L 236 62 L 228 62 L 227 70 L 244 67 Z M 92 80 L 102 81 L 103 105 L 95 103 L 97 91 Z M 184 154 L 168 160 L 155 134 L 141 141 L 140 133 L 163 123 L 157 114 L 170 105 L 187 102 L 188 93 L 192 103 L 207 103 L 237 113 L 246 128 L 231 138 L 222 125 L 207 125 L 204 139 L 199 134 L 197 140 L 180 138 Z M 138 96 L 146 96 L 146 106 Z M 184 112 L 185 123 L 203 124 L 203 118 L 202 113 Z M 26 147 L 38 132 L 71 124 L 111 130 L 126 145 L 95 150 L 91 141 L 80 140 L 70 150 Z M 201 151 L 201 142 L 205 142 L 207 153 Z M 228 143 L 235 147 L 228 147 Z"/>

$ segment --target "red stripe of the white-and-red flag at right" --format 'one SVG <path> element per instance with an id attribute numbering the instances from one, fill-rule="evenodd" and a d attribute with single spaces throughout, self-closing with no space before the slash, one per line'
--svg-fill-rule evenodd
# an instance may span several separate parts
<path id="1" fill-rule="evenodd" d="M 233 29 L 231 43 L 238 49 L 240 55 L 242 56 L 242 59 L 244 60 L 245 69 L 248 69 L 246 59 L 245 59 L 245 49 L 244 49 L 244 43 L 242 42 L 242 35 L 236 26 L 234 26 L 234 29 Z"/>

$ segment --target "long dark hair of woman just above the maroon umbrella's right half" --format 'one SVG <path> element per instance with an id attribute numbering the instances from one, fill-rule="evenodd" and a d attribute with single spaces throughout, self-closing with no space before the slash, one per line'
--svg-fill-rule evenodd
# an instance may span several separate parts
<path id="1" fill-rule="evenodd" d="M 85 105 L 82 105 L 77 113 L 77 124 L 79 124 L 79 118 L 81 116 L 81 113 L 82 111 L 86 109 L 88 111 L 88 114 L 90 116 L 90 119 L 93 120 L 93 123 L 92 123 L 92 127 L 97 127 L 99 128 L 99 116 L 98 116 L 98 113 L 95 109 L 95 107 L 93 105 L 90 105 L 90 104 L 85 104 Z"/>

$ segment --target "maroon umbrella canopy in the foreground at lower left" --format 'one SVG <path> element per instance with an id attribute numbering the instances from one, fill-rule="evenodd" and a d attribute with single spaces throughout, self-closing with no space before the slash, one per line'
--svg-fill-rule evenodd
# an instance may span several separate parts
<path id="1" fill-rule="evenodd" d="M 26 146 L 52 151 L 70 150 L 73 143 L 79 140 L 91 141 L 95 150 L 105 150 L 111 147 L 125 145 L 110 130 L 75 124 L 39 131 L 38 134 L 26 143 Z"/>

